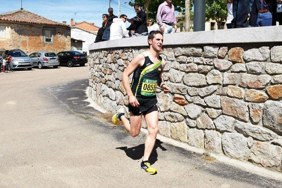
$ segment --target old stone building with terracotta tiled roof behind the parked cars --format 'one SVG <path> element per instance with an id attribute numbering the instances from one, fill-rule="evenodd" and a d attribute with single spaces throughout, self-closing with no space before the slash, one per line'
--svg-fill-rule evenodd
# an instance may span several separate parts
<path id="1" fill-rule="evenodd" d="M 70 26 L 26 10 L 0 14 L 0 48 L 60 52 L 70 50 Z"/>

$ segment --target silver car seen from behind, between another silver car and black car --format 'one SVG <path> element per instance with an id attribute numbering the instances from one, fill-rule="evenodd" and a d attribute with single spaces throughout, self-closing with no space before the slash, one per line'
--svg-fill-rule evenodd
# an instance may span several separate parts
<path id="1" fill-rule="evenodd" d="M 34 52 L 29 55 L 33 62 L 33 66 L 37 66 L 39 69 L 42 69 L 44 66 L 53 66 L 58 68 L 60 62 L 59 57 L 54 52 Z"/>

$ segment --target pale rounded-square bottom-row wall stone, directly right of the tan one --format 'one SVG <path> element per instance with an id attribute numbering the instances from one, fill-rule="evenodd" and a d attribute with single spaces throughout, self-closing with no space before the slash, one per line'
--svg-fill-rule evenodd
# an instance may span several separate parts
<path id="1" fill-rule="evenodd" d="M 204 131 L 198 130 L 196 128 L 191 128 L 188 130 L 188 144 L 196 147 L 204 149 Z"/>

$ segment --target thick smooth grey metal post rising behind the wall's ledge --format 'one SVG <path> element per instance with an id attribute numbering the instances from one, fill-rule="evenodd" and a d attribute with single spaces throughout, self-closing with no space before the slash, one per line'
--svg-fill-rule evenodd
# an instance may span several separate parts
<path id="1" fill-rule="evenodd" d="M 194 31 L 204 31 L 206 20 L 206 0 L 194 1 Z"/>

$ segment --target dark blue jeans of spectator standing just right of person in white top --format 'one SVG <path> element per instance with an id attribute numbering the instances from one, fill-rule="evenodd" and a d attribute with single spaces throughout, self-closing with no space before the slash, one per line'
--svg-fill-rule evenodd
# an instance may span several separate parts
<path id="1" fill-rule="evenodd" d="M 248 27 L 248 13 L 253 0 L 233 0 L 233 20 L 235 28 Z"/>

